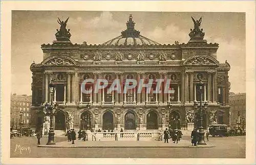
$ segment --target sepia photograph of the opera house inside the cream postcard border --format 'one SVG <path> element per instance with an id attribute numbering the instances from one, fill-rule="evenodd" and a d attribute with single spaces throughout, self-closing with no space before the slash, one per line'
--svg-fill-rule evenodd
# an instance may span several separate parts
<path id="1" fill-rule="evenodd" d="M 9 158 L 248 156 L 246 12 L 10 14 Z"/>

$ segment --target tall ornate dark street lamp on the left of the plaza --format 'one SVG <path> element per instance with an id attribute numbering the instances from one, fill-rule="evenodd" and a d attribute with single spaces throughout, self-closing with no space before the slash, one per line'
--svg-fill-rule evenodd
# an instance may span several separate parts
<path id="1" fill-rule="evenodd" d="M 48 142 L 47 145 L 54 145 L 54 130 L 53 130 L 53 116 L 55 116 L 55 113 L 53 112 L 54 109 L 57 109 L 58 104 L 53 104 L 53 98 L 54 93 L 56 90 L 56 84 L 51 80 L 51 83 L 49 84 L 50 93 L 51 93 L 51 104 L 48 103 L 45 104 L 46 113 L 47 116 L 50 116 L 50 130 L 48 133 Z"/>

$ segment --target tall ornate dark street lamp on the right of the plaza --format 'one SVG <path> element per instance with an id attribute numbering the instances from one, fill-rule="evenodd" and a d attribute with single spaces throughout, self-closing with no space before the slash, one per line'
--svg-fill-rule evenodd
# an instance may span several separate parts
<path id="1" fill-rule="evenodd" d="M 199 112 L 198 113 L 198 117 L 199 117 L 199 121 L 200 121 L 200 125 L 199 125 L 199 145 L 206 145 L 205 141 L 204 141 L 204 129 L 203 129 L 203 107 L 202 107 L 202 100 L 203 100 L 203 83 L 202 80 L 200 80 L 199 82 L 199 92 L 200 92 L 200 107 L 199 107 Z M 198 107 L 198 103 L 195 102 L 195 108 Z M 206 110 L 207 108 L 207 102 L 204 103 L 204 109 Z"/>

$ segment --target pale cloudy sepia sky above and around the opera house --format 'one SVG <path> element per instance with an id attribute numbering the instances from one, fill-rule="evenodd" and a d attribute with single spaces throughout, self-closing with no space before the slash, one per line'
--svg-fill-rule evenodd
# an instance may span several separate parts
<path id="1" fill-rule="evenodd" d="M 135 29 L 161 44 L 187 43 L 191 16 L 202 16 L 208 43 L 219 43 L 217 60 L 231 65 L 230 92 L 245 92 L 245 14 L 194 12 L 12 11 L 12 93 L 31 95 L 30 65 L 42 61 L 40 45 L 55 40 L 57 17 L 66 20 L 72 43 L 101 44 L 119 36 L 133 14 Z"/>

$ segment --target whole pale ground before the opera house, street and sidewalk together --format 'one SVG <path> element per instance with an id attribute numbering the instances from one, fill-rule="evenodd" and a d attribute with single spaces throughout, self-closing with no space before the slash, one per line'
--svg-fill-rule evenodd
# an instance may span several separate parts
<path id="1" fill-rule="evenodd" d="M 55 137 L 54 148 L 42 147 L 47 143 L 42 137 L 41 147 L 36 137 L 15 137 L 11 139 L 11 157 L 59 157 L 59 158 L 245 158 L 245 136 L 209 137 L 206 146 L 191 146 L 190 137 L 183 137 L 180 143 L 144 141 L 75 141 L 74 147 L 67 137 Z M 88 146 L 79 148 L 75 146 Z M 19 146 L 20 145 L 20 146 Z M 65 147 L 66 146 L 66 147 Z M 105 146 L 105 147 L 104 147 Z M 126 146 L 126 147 L 125 147 Z M 127 147 L 130 146 L 130 147 Z M 190 146 L 190 147 L 186 147 Z M 23 150 L 20 150 L 19 147 Z"/>

